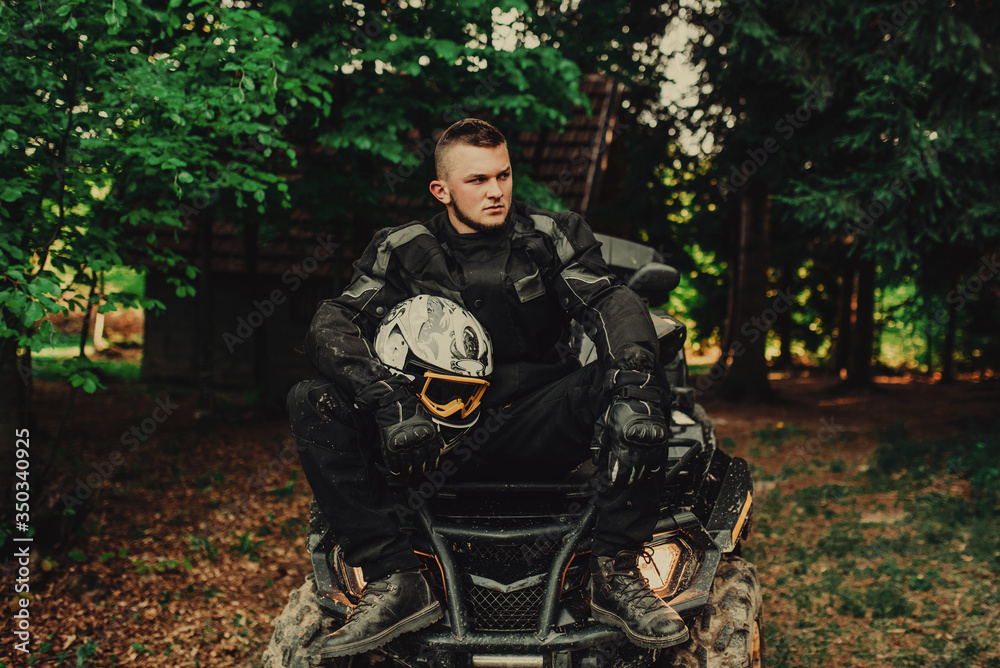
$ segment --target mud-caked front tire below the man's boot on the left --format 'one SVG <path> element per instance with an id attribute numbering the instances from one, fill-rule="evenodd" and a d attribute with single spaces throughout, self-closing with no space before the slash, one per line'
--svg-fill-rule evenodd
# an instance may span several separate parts
<path id="1" fill-rule="evenodd" d="M 310 573 L 305 584 L 292 592 L 288 605 L 274 620 L 274 633 L 264 651 L 264 668 L 314 668 L 320 665 L 323 637 L 337 628 L 336 620 L 323 612 L 316 595 L 316 579 Z M 327 659 L 324 666 L 346 665 Z"/>

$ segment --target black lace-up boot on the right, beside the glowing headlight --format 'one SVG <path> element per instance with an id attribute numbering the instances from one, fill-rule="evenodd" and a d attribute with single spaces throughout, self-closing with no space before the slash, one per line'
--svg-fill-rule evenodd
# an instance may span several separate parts
<path id="1" fill-rule="evenodd" d="M 688 639 L 687 626 L 649 588 L 649 581 L 639 572 L 641 554 L 623 551 L 614 558 L 591 557 L 590 607 L 594 619 L 617 626 L 634 645 L 646 649 L 682 643 Z"/>

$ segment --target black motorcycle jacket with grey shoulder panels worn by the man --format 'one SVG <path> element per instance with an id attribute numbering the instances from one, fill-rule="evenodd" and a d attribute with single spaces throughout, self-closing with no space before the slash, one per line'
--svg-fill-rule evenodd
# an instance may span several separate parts
<path id="1" fill-rule="evenodd" d="M 391 375 L 375 354 L 382 317 L 419 294 L 452 299 L 493 340 L 494 373 L 484 405 L 503 406 L 578 363 L 570 318 L 594 340 L 605 369 L 652 371 L 658 343 L 649 312 L 615 285 L 600 243 L 575 213 L 514 202 L 496 231 L 459 234 L 442 212 L 380 230 L 354 263 L 343 294 L 320 302 L 306 354 L 352 395 Z"/>

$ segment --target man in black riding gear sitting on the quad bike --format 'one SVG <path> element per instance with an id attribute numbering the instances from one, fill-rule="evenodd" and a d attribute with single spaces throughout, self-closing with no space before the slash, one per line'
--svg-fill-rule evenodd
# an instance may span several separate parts
<path id="1" fill-rule="evenodd" d="M 593 615 L 643 647 L 683 642 L 684 622 L 638 569 L 659 517 L 669 405 L 645 305 L 614 284 L 580 216 L 511 200 L 506 141 L 492 125 L 455 123 L 434 159 L 430 191 L 445 211 L 375 235 L 351 284 L 320 304 L 310 326 L 307 354 L 324 378 L 289 393 L 306 477 L 345 560 L 368 583 L 324 656 L 374 649 L 442 615 L 383 475 L 431 469 L 441 439 L 409 381 L 372 346 L 386 313 L 419 294 L 463 305 L 493 341 L 483 406 L 505 419 L 461 473 L 565 472 L 593 448 L 610 481 L 593 534 Z M 561 353 L 570 318 L 587 324 L 597 363 L 581 368 Z"/>

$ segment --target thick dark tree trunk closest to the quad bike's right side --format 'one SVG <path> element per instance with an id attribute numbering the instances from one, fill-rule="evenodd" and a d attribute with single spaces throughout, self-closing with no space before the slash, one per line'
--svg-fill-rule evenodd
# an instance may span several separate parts
<path id="1" fill-rule="evenodd" d="M 763 184 L 751 186 L 740 203 L 737 317 L 730 325 L 732 363 L 720 396 L 728 401 L 771 401 L 766 341 L 768 241 L 771 200 Z M 774 322 L 773 319 L 770 320 Z M 723 351 L 725 354 L 725 351 Z"/>

